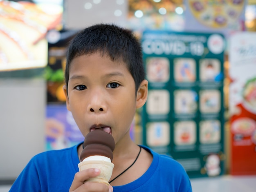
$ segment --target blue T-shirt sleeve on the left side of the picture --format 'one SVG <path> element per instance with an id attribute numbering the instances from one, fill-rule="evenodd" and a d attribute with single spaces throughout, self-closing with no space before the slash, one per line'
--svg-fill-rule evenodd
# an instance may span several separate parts
<path id="1" fill-rule="evenodd" d="M 41 191 L 38 171 L 32 158 L 14 181 L 9 192 Z"/>

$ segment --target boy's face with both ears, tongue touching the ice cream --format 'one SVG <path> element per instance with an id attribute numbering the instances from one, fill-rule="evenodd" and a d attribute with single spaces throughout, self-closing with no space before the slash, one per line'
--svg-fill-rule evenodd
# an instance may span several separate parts
<path id="1" fill-rule="evenodd" d="M 147 81 L 135 97 L 135 83 L 126 64 L 99 53 L 74 58 L 69 74 L 68 90 L 64 86 L 67 109 L 83 136 L 103 128 L 117 143 L 128 135 L 136 108 L 146 102 Z"/>

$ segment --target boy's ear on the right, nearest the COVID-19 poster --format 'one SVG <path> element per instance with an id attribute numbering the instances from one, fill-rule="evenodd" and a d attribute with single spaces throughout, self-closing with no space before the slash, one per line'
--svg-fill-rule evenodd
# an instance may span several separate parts
<path id="1" fill-rule="evenodd" d="M 136 97 L 136 109 L 139 109 L 142 107 L 148 98 L 148 81 L 144 79 L 137 91 L 137 97 Z"/>

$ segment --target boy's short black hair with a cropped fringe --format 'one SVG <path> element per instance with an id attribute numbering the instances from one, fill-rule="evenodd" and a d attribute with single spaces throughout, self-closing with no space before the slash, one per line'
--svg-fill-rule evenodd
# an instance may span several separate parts
<path id="1" fill-rule="evenodd" d="M 112 61 L 126 63 L 135 82 L 135 94 L 145 71 L 141 44 L 132 31 L 113 24 L 97 24 L 80 31 L 70 42 L 67 49 L 65 83 L 68 86 L 69 69 L 72 60 L 78 56 L 101 52 Z"/>

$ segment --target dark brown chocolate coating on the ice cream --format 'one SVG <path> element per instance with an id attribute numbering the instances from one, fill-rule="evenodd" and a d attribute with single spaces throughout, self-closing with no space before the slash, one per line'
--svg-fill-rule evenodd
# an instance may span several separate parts
<path id="1" fill-rule="evenodd" d="M 85 136 L 83 147 L 84 149 L 80 156 L 81 161 L 93 155 L 106 156 L 112 161 L 115 141 L 112 135 L 102 129 L 96 129 Z"/>

